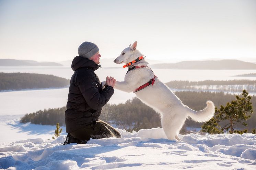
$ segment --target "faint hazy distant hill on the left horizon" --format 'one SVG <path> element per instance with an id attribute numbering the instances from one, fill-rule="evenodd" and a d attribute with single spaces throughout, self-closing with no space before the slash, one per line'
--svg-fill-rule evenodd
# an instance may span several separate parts
<path id="1" fill-rule="evenodd" d="M 63 66 L 56 62 L 37 62 L 34 60 L 0 59 L 0 66 Z"/>

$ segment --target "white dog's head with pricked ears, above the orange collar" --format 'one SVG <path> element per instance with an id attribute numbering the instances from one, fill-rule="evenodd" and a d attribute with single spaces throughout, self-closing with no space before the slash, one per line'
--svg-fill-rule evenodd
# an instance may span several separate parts
<path id="1" fill-rule="evenodd" d="M 135 41 L 132 45 L 130 44 L 129 47 L 125 48 L 121 52 L 121 54 L 114 60 L 114 62 L 117 64 L 126 64 L 140 57 L 142 54 L 136 49 L 136 47 L 137 41 Z"/>

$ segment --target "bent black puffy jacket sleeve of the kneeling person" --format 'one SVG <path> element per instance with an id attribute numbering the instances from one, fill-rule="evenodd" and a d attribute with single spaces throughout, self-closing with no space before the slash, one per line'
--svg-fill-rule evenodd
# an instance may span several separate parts
<path id="1" fill-rule="evenodd" d="M 100 93 L 98 91 L 96 80 L 91 77 L 87 77 L 80 81 L 79 88 L 86 103 L 94 110 L 100 109 L 107 104 L 115 91 L 113 87 L 105 86 Z"/>

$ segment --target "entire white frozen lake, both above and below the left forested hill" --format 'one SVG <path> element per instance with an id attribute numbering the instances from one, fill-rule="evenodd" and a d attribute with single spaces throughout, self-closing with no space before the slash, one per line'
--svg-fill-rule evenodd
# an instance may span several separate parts
<path id="1" fill-rule="evenodd" d="M 118 66 L 118 65 L 117 65 Z M 101 81 L 106 76 L 113 76 L 117 81 L 123 81 L 127 68 L 100 68 L 95 71 Z M 256 70 L 172 70 L 154 69 L 155 75 L 162 82 L 173 80 L 203 81 L 203 80 L 256 80 L 256 77 L 234 77 L 238 74 L 256 73 Z M 70 79 L 73 70 L 70 67 L 0 67 L 0 72 L 13 73 L 40 73 L 53 74 Z M 48 108 L 58 108 L 66 105 L 68 88 L 24 90 L 0 93 L 0 115 L 17 115 L 36 112 Z M 118 104 L 135 97 L 133 93 L 115 90 L 109 103 Z"/>

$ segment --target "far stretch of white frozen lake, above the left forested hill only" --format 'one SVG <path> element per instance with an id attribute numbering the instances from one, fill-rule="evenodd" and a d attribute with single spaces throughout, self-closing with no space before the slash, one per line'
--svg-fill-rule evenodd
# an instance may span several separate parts
<path id="1" fill-rule="evenodd" d="M 188 80 L 188 81 L 203 81 L 203 80 L 256 80 L 256 77 L 234 77 L 238 74 L 256 73 L 256 70 L 173 70 L 173 69 L 153 69 L 156 76 L 163 82 L 172 80 Z M 38 73 L 38 74 L 53 74 L 59 77 L 70 79 L 73 74 L 71 67 L 0 67 L 0 72 L 5 73 Z M 106 76 L 114 76 L 117 81 L 123 81 L 127 68 L 122 65 L 117 65 L 117 68 L 104 67 L 96 70 L 101 81 L 106 79 Z"/>

